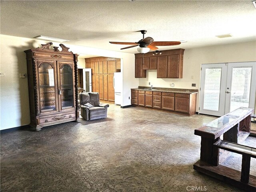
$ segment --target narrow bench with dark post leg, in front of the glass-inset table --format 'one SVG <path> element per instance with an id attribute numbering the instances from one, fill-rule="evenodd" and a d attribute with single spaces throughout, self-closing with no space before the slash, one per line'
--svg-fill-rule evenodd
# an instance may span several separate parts
<path id="1" fill-rule="evenodd" d="M 218 140 L 214 143 L 214 146 L 242 155 L 241 182 L 248 183 L 250 178 L 250 161 L 251 157 L 256 158 L 256 148 L 223 140 Z"/>

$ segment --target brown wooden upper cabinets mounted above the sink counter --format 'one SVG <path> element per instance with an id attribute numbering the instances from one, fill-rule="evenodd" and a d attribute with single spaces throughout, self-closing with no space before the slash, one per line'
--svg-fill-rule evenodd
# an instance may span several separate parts
<path id="1" fill-rule="evenodd" d="M 153 56 L 152 52 L 135 54 L 135 78 L 146 78 L 146 70 L 156 69 L 157 78 L 182 78 L 184 49 L 163 50 Z"/>

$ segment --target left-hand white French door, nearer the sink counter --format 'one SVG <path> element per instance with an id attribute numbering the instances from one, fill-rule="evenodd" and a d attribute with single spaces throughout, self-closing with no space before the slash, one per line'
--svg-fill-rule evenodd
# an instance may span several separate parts
<path id="1" fill-rule="evenodd" d="M 200 113 L 214 116 L 224 115 L 226 76 L 225 63 L 202 64 Z"/>

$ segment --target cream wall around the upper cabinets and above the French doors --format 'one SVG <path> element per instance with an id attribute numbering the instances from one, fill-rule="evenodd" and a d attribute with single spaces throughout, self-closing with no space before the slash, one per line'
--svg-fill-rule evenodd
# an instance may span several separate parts
<path id="1" fill-rule="evenodd" d="M 256 61 L 256 41 L 186 49 L 184 51 L 182 79 L 156 78 L 156 70 L 147 70 L 147 76 L 140 78 L 139 86 L 149 86 L 148 82 L 150 82 L 154 87 L 171 88 L 170 84 L 174 83 L 174 88 L 199 90 L 202 64 L 249 61 Z M 196 83 L 196 87 L 192 87 L 192 83 Z M 199 93 L 196 100 L 197 112 L 198 106 Z"/>

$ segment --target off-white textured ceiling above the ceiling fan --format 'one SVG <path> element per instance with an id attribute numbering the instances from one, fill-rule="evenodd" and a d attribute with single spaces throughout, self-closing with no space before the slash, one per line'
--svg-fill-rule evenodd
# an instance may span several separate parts
<path id="1" fill-rule="evenodd" d="M 242 1 L 0 1 L 4 35 L 50 36 L 68 44 L 138 53 L 137 47 L 109 41 L 137 42 L 138 30 L 155 41 L 180 41 L 159 50 L 194 48 L 256 40 L 256 9 Z M 230 38 L 216 35 L 232 34 Z M 65 44 L 65 43 L 64 43 Z"/>

